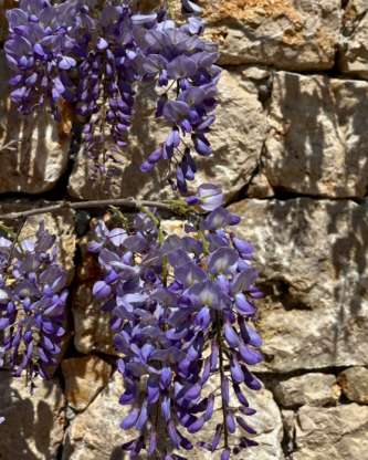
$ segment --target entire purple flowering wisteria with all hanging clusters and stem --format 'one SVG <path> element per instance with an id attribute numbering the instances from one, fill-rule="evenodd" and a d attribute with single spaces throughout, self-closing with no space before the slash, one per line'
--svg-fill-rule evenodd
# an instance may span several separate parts
<path id="1" fill-rule="evenodd" d="M 119 402 L 129 406 L 122 428 L 137 431 L 123 449 L 132 459 L 145 451 L 181 460 L 198 446 L 228 460 L 256 443 L 245 390 L 261 388 L 250 366 L 262 360 L 253 324 L 262 293 L 253 248 L 234 233 L 240 217 L 224 208 L 221 189 L 203 184 L 196 195 L 188 192 L 194 154 L 212 153 L 217 48 L 202 39 L 201 9 L 193 1 L 182 0 L 187 19 L 179 25 L 165 6 L 143 14 L 129 1 L 111 0 L 102 9 L 95 3 L 21 0 L 8 12 L 11 98 L 25 115 L 45 106 L 56 121 L 67 105 L 73 123 L 83 126 L 86 155 L 106 172 L 107 157 L 128 143 L 139 88 L 155 90 L 156 117 L 168 134 L 140 169 L 166 160 L 168 179 L 185 198 L 158 209 L 137 201 L 141 209 L 133 222 L 120 213 L 113 227 L 98 220 L 88 243 L 101 269 L 93 296 L 111 317 L 122 356 Z M 181 236 L 165 232 L 159 209 L 186 216 Z M 15 376 L 24 372 L 32 387 L 34 377 L 50 377 L 62 356 L 66 272 L 43 223 L 27 240 L 1 229 L 0 366 Z M 218 411 L 212 437 L 193 441 Z"/>

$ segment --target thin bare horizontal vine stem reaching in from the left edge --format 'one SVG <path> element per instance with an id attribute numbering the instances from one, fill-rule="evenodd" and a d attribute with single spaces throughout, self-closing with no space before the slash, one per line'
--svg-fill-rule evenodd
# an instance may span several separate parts
<path id="1" fill-rule="evenodd" d="M 117 199 L 105 199 L 105 200 L 88 200 L 88 201 L 57 201 L 54 205 L 44 206 L 41 208 L 27 209 L 19 212 L 9 212 L 0 215 L 0 220 L 13 220 L 19 218 L 27 218 L 30 216 L 43 215 L 45 212 L 56 212 L 67 209 L 92 209 L 103 208 L 108 206 L 123 207 L 128 209 L 139 210 L 143 207 L 153 207 L 162 209 L 166 211 L 178 212 L 176 207 L 165 201 L 150 201 L 150 200 L 137 200 L 134 198 L 117 198 Z"/>

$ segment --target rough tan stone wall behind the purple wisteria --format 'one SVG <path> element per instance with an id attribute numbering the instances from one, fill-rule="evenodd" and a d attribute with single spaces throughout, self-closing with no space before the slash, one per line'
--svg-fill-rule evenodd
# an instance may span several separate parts
<path id="1" fill-rule="evenodd" d="M 215 177 L 243 217 L 241 233 L 256 248 L 267 294 L 257 320 L 265 388 L 250 395 L 260 447 L 239 459 L 367 460 L 368 2 L 202 6 L 225 70 L 214 158 L 202 163 L 200 180 Z M 60 126 L 46 115 L 17 114 L 3 62 L 0 72 L 1 211 L 65 197 L 168 196 L 159 172 L 151 178 L 137 169 L 159 140 L 158 127 L 137 119 L 118 174 L 91 179 Z M 138 109 L 153 112 L 145 101 Z M 95 272 L 83 239 L 75 249 L 83 233 L 77 218 L 74 228 L 73 216 L 48 217 L 70 269 L 73 333 L 54 379 L 39 383 L 32 398 L 21 381 L 0 374 L 3 460 L 124 458 L 122 381 L 108 320 L 91 300 Z M 180 222 L 167 226 L 179 231 Z"/>

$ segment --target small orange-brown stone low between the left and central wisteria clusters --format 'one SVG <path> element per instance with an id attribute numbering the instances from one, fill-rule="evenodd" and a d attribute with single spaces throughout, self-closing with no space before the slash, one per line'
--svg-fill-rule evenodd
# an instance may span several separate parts
<path id="1" fill-rule="evenodd" d="M 112 366 L 97 356 L 69 358 L 62 362 L 65 397 L 75 410 L 84 410 L 107 385 Z"/>

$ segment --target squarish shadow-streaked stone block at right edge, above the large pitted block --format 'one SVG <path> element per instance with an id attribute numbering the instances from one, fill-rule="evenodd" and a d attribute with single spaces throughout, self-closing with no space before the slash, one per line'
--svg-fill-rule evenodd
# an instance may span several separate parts
<path id="1" fill-rule="evenodd" d="M 263 159 L 271 186 L 302 195 L 364 197 L 367 112 L 366 82 L 275 73 Z"/>

